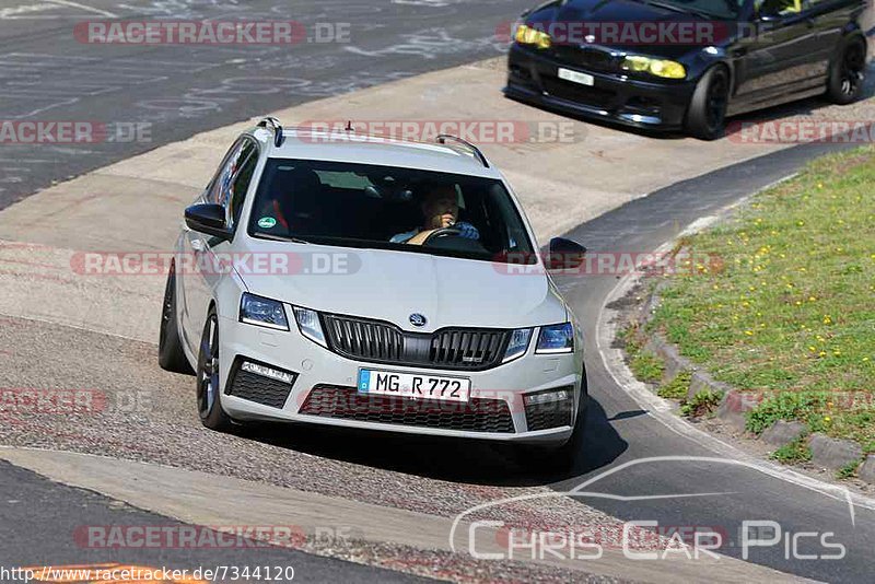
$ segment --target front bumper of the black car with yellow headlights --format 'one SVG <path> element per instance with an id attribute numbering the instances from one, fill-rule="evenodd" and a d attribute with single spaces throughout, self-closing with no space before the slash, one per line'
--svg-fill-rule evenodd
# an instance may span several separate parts
<path id="1" fill-rule="evenodd" d="M 559 79 L 559 67 L 591 74 L 593 86 Z M 646 82 L 619 73 L 598 72 L 563 62 L 534 49 L 512 45 L 508 56 L 509 97 L 570 114 L 600 118 L 637 128 L 674 130 L 684 127 L 696 83 Z"/>

